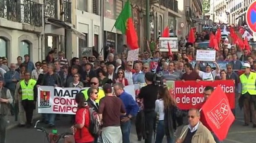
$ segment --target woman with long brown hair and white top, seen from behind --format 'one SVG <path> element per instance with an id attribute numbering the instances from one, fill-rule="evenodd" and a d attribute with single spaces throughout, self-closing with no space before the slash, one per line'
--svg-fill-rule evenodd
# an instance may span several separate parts
<path id="1" fill-rule="evenodd" d="M 174 143 L 174 110 L 176 102 L 166 85 L 159 87 L 159 99 L 155 102 L 155 112 L 159 114 L 157 124 L 156 143 L 162 143 L 164 136 L 167 137 L 166 143 Z"/>

